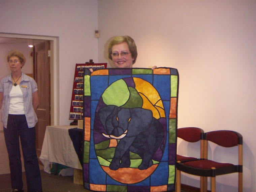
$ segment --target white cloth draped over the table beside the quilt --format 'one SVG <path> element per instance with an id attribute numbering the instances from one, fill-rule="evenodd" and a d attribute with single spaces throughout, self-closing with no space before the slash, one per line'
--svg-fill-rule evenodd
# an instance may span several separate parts
<path id="1" fill-rule="evenodd" d="M 44 165 L 44 171 L 51 173 L 51 162 L 59 163 L 76 169 L 82 169 L 73 143 L 68 134 L 68 129 L 77 125 L 47 126 L 43 139 L 40 161 Z"/>

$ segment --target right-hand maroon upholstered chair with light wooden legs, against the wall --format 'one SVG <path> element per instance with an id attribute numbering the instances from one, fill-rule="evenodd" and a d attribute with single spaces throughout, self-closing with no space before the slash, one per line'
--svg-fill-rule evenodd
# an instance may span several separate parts
<path id="1" fill-rule="evenodd" d="M 238 172 L 238 191 L 243 191 L 243 137 L 235 131 L 220 130 L 205 133 L 203 160 L 187 161 L 177 164 L 177 170 L 201 176 L 211 177 L 211 191 L 216 191 L 216 176 Z M 220 163 L 207 159 L 208 141 L 230 148 L 238 146 L 238 165 Z M 178 174 L 178 173 L 177 173 Z M 177 183 L 178 185 L 178 183 Z M 205 190 L 205 189 L 204 189 Z M 207 188 L 206 188 L 207 190 Z"/>

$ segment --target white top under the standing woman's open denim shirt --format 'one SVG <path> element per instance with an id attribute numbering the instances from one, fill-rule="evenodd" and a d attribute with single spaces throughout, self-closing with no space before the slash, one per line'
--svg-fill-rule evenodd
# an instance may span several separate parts
<path id="1" fill-rule="evenodd" d="M 23 94 L 19 85 L 17 86 L 13 85 L 10 91 L 9 114 L 12 114 L 12 115 L 25 114 Z"/>

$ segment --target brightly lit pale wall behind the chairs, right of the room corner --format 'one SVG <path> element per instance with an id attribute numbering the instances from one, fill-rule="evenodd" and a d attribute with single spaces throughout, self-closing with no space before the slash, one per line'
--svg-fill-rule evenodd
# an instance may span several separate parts
<path id="1" fill-rule="evenodd" d="M 99 62 L 106 60 L 110 37 L 130 35 L 138 50 L 134 67 L 177 68 L 178 127 L 240 132 L 244 191 L 250 192 L 256 190 L 255 18 L 255 0 L 99 1 Z M 182 144 L 179 153 L 187 153 Z M 229 155 L 234 163 L 236 154 Z M 182 177 L 182 183 L 196 187 L 198 180 Z M 237 174 L 217 177 L 217 191 L 237 191 Z"/>

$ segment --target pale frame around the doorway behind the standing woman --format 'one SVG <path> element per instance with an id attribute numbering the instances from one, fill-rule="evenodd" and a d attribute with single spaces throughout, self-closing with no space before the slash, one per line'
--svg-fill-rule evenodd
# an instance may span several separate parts
<path id="1" fill-rule="evenodd" d="M 51 125 L 60 124 L 59 114 L 59 37 L 42 35 L 24 35 L 15 33 L 1 33 L 0 37 L 23 38 L 23 39 L 41 39 L 50 41 L 50 73 L 51 73 Z"/>

